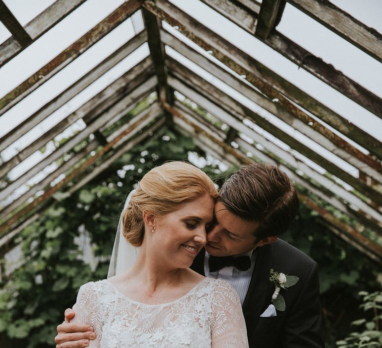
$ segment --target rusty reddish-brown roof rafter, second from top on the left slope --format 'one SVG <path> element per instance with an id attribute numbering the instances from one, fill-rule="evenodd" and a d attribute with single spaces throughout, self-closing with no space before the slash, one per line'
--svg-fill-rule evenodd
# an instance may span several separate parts
<path id="1" fill-rule="evenodd" d="M 112 31 L 115 27 L 127 19 L 133 12 L 139 8 L 139 0 L 129 0 L 109 14 L 105 19 L 96 24 L 91 30 L 79 38 L 75 43 L 70 45 L 55 58 L 53 58 L 44 67 L 15 87 L 0 99 L 0 115 L 9 110 L 9 104 L 13 106 L 13 100 L 17 97 L 19 101 L 24 96 L 31 93 L 37 87 L 44 84 L 52 76 L 56 75 L 74 59 L 79 57 L 98 40 Z"/>

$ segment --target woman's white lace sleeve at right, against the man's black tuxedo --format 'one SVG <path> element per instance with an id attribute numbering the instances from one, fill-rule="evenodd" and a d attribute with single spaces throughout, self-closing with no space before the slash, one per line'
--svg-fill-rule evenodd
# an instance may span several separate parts
<path id="1" fill-rule="evenodd" d="M 235 289 L 218 279 L 212 295 L 212 348 L 248 347 L 247 330 Z"/>

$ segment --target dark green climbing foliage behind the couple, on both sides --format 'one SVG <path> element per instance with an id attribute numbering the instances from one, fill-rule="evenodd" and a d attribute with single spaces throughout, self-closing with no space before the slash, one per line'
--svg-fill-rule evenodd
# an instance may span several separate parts
<path id="1" fill-rule="evenodd" d="M 64 310 L 76 302 L 79 287 L 106 277 L 119 214 L 129 191 L 151 168 L 168 160 L 187 160 L 190 153 L 201 160 L 205 155 L 192 139 L 167 130 L 135 146 L 72 195 L 65 190 L 54 194 L 44 213 L 17 239 L 23 264 L 0 284 L 1 347 L 53 347 L 56 327 Z M 222 173 L 207 164 L 203 170 L 220 186 L 237 168 Z M 334 347 L 335 341 L 349 334 L 347 320 L 350 324 L 359 318 L 358 310 L 352 310 L 357 308 L 357 293 L 375 291 L 381 285 L 375 281 L 377 267 L 318 221 L 316 213 L 301 206 L 298 220 L 283 239 L 319 263 L 325 338 L 327 347 Z M 81 231 L 91 239 L 96 267 L 83 261 L 76 242 Z M 369 322 L 361 325 L 374 330 Z"/>

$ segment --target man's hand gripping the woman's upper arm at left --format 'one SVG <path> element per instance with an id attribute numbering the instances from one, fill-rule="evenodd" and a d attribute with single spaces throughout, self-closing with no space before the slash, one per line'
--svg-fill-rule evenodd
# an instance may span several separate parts
<path id="1" fill-rule="evenodd" d="M 93 328 L 89 325 L 70 323 L 74 316 L 71 308 L 65 310 L 65 320 L 57 327 L 57 336 L 54 338 L 56 348 L 88 347 L 90 340 L 95 339 Z"/>

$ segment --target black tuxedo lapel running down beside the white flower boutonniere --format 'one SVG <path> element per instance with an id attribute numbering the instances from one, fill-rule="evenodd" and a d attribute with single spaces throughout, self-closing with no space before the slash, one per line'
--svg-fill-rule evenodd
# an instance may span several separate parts
<path id="1" fill-rule="evenodd" d="M 243 314 L 248 333 L 257 325 L 260 315 L 270 305 L 272 298 L 270 270 L 274 260 L 273 243 L 259 247 L 251 282 L 243 303 Z"/>

